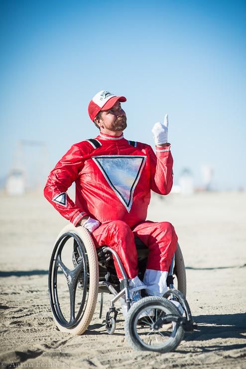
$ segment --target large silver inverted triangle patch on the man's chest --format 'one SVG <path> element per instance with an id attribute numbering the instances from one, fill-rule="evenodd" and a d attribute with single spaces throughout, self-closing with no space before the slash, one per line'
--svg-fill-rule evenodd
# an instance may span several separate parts
<path id="1" fill-rule="evenodd" d="M 146 156 L 104 155 L 92 159 L 129 212 Z"/>

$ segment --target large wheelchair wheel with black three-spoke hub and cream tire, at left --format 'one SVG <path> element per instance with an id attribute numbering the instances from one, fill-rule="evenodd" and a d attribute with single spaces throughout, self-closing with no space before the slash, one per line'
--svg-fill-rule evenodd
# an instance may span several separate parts
<path id="1" fill-rule="evenodd" d="M 90 233 L 68 224 L 55 243 L 49 267 L 49 299 L 56 326 L 82 334 L 97 303 L 98 257 Z"/>

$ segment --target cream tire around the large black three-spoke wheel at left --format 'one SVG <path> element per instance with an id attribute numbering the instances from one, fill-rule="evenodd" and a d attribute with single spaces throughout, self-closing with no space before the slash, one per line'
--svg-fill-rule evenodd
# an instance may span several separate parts
<path id="1" fill-rule="evenodd" d="M 88 299 L 87 299 L 86 308 L 85 308 L 82 318 L 79 320 L 78 324 L 72 328 L 66 328 L 60 324 L 60 321 L 57 319 L 57 316 L 54 313 L 52 306 L 51 306 L 51 311 L 52 311 L 55 324 L 61 332 L 67 332 L 73 335 L 81 335 L 88 328 L 92 320 L 93 314 L 95 312 L 96 304 L 97 304 L 98 286 L 99 286 L 98 256 L 97 256 L 97 252 L 96 252 L 93 239 L 89 231 L 81 226 L 75 227 L 72 224 L 68 224 L 59 233 L 56 239 L 55 245 L 58 242 L 58 240 L 62 237 L 62 235 L 68 232 L 77 235 L 82 241 L 82 243 L 84 244 L 85 249 L 86 249 L 89 270 L 90 270 Z M 53 254 L 54 254 L 54 251 L 53 251 Z M 53 257 L 53 254 L 52 254 L 52 257 Z M 72 252 L 71 252 L 71 255 L 72 255 Z M 49 270 L 50 305 L 52 305 L 52 278 L 51 278 L 51 273 L 52 273 L 51 269 L 53 265 L 52 257 L 51 257 L 50 270 Z"/>

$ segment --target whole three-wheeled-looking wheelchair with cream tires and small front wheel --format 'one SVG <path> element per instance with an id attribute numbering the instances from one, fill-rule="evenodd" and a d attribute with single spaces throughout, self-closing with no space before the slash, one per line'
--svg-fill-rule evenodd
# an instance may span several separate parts
<path id="1" fill-rule="evenodd" d="M 138 277 L 142 280 L 148 249 L 138 238 L 135 243 Z M 123 275 L 121 283 L 114 259 Z M 134 292 L 132 294 L 131 290 L 130 294 L 123 264 L 115 250 L 108 246 L 96 249 L 89 231 L 72 224 L 65 226 L 56 239 L 49 266 L 48 289 L 52 315 L 62 332 L 83 334 L 94 315 L 98 293 L 101 293 L 101 318 L 104 292 L 108 292 L 113 295 L 105 320 L 109 334 L 116 329 L 119 309 L 116 309 L 115 303 L 123 299 L 127 307 L 124 323 L 127 343 L 136 350 L 172 351 L 182 341 L 184 332 L 192 332 L 195 328 L 185 299 L 185 266 L 178 244 L 168 272 L 167 285 L 169 289 L 163 297 L 143 296 L 132 303 Z M 183 315 L 171 300 L 181 304 Z"/>

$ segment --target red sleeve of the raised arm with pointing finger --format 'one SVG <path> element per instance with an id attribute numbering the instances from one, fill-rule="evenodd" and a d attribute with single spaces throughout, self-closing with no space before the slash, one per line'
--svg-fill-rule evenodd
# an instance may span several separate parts
<path id="1" fill-rule="evenodd" d="M 173 158 L 170 146 L 156 147 L 156 155 L 149 146 L 150 186 L 154 192 L 167 195 L 173 183 Z"/>

